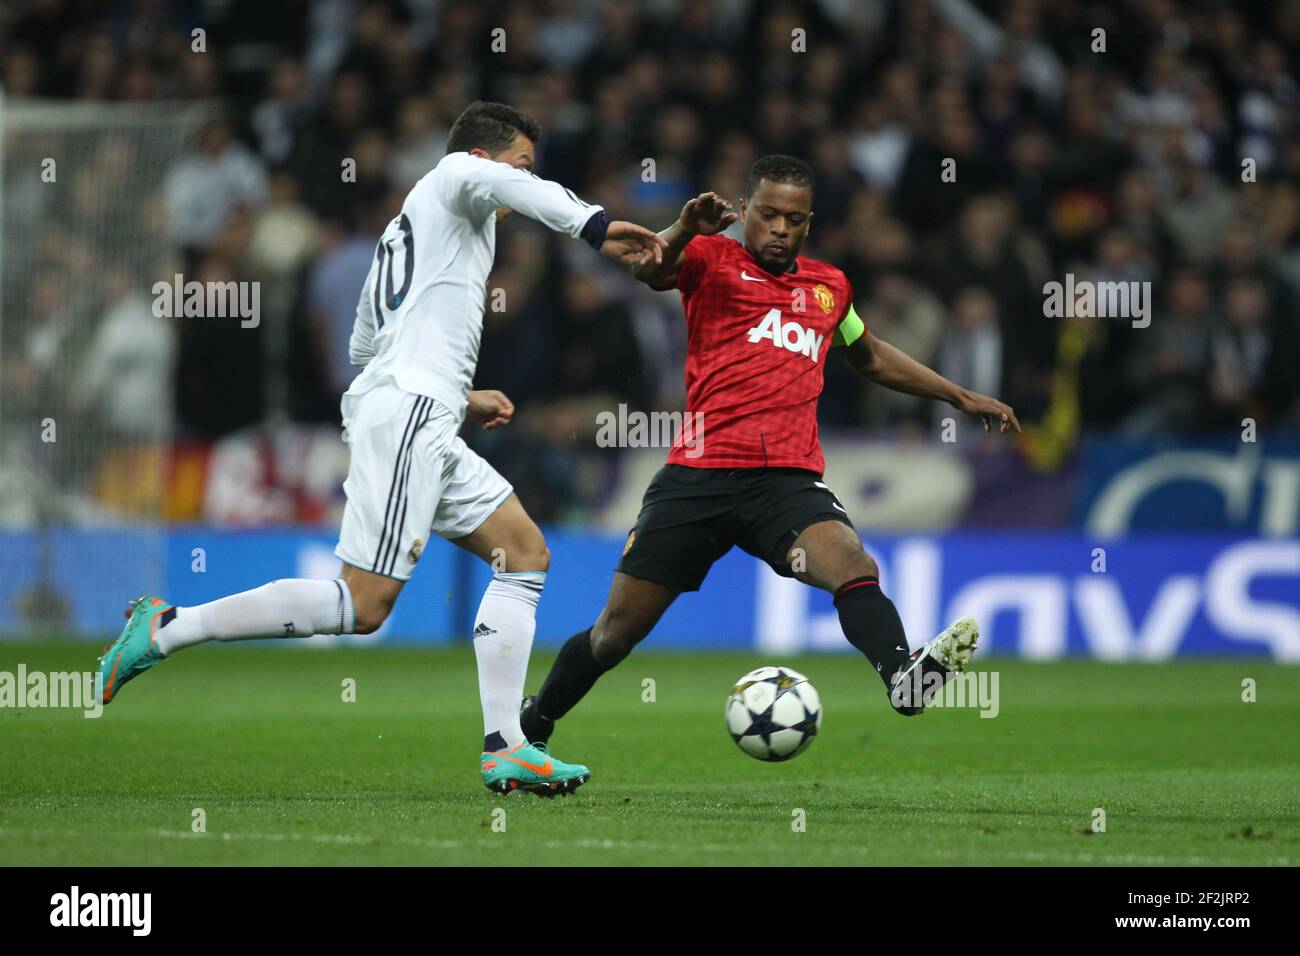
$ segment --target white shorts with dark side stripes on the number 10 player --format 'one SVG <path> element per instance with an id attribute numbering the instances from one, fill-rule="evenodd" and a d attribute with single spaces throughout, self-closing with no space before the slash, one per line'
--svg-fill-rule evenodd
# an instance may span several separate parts
<path id="1" fill-rule="evenodd" d="M 469 535 L 514 492 L 432 398 L 384 385 L 342 410 L 351 460 L 334 554 L 354 567 L 404 581 L 430 535 Z"/>

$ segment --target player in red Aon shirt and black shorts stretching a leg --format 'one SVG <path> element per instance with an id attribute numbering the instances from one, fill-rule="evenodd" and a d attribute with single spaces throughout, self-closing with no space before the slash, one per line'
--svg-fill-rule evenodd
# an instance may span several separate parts
<path id="1" fill-rule="evenodd" d="M 806 163 L 764 156 L 746 186 L 744 243 L 719 234 L 737 213 L 705 193 L 659 233 L 668 245 L 663 263 L 633 269 L 654 289 L 681 293 L 686 420 L 701 424 L 682 429 L 646 489 L 604 610 L 564 644 L 540 693 L 524 700 L 530 741 L 549 740 L 554 722 L 650 633 L 677 594 L 698 591 L 734 545 L 835 596 L 845 637 L 875 666 L 900 714 L 920 713 L 975 650 L 971 618 L 909 650 L 876 562 L 822 481 L 816 402 L 836 346 L 864 377 L 979 415 L 985 431 L 993 421 L 1000 432 L 1019 431 L 1015 414 L 878 339 L 854 311 L 844 273 L 800 255 L 812 221 Z"/>

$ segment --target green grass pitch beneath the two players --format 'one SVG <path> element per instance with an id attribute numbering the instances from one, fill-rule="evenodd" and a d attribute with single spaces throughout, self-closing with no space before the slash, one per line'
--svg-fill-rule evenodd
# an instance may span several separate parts
<path id="1" fill-rule="evenodd" d="M 534 656 L 530 688 L 550 659 Z M 94 649 L 0 643 L 0 670 L 20 661 L 87 670 Z M 802 670 L 822 693 L 822 734 L 786 763 L 744 756 L 723 726 L 732 683 L 760 663 Z M 199 648 L 100 719 L 0 710 L 0 862 L 1300 862 L 1300 669 L 976 663 L 1000 674 L 996 718 L 905 719 L 855 657 L 668 654 L 651 641 L 552 741 L 592 783 L 538 800 L 478 780 L 467 646 Z M 1242 701 L 1244 678 L 1257 702 Z"/>

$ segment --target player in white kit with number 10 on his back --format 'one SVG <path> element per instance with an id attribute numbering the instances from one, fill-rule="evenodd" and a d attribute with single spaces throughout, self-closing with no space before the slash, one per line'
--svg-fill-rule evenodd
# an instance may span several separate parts
<path id="1" fill-rule="evenodd" d="M 585 766 L 564 763 L 520 730 L 550 554 L 510 483 L 459 431 L 465 420 L 500 428 L 515 410 L 499 392 L 471 389 L 499 219 L 521 212 L 624 264 L 659 261 L 664 243 L 534 176 L 540 134 L 510 107 L 471 104 L 451 127 L 447 155 L 380 238 L 348 343 L 354 364 L 365 368 L 342 401 L 351 463 L 339 576 L 276 580 L 192 607 L 138 598 L 100 658 L 105 704 L 138 674 L 205 641 L 374 632 L 429 536 L 439 535 L 494 568 L 473 639 L 484 783 L 551 796 L 590 779 Z"/>

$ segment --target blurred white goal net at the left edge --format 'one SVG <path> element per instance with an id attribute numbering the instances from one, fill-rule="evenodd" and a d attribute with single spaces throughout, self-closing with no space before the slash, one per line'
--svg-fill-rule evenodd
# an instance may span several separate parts
<path id="1" fill-rule="evenodd" d="M 0 633 L 110 635 L 162 584 L 164 183 L 204 107 L 0 94 Z"/>

